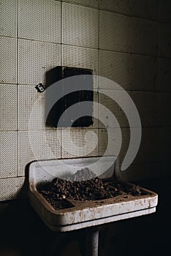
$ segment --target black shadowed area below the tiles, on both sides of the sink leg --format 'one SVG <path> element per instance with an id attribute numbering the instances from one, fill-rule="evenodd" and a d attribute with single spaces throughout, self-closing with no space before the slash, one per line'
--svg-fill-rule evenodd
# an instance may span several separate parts
<path id="1" fill-rule="evenodd" d="M 100 256 L 167 255 L 170 252 L 170 182 L 168 178 L 138 183 L 158 193 L 156 213 L 105 226 L 100 233 Z M 0 209 L 0 256 L 80 255 L 77 244 L 80 231 L 70 233 L 64 243 L 56 247 L 61 235 L 45 227 L 28 200 L 1 203 Z"/>

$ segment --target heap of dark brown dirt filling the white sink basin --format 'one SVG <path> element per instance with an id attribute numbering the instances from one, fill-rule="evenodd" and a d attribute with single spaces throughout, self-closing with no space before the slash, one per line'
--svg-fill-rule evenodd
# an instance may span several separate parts
<path id="1" fill-rule="evenodd" d="M 88 168 L 77 170 L 68 179 L 54 178 L 48 184 L 39 185 L 37 190 L 55 209 L 72 207 L 65 199 L 103 200 L 121 195 L 122 192 L 141 195 L 139 186 L 123 187 L 119 181 L 104 181 Z"/>

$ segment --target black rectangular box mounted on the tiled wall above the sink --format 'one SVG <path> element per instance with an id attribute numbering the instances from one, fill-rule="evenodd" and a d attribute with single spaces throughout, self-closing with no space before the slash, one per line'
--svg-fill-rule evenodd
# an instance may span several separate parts
<path id="1" fill-rule="evenodd" d="M 80 89 L 77 91 L 73 89 L 73 91 L 67 94 L 65 83 L 56 83 L 60 80 L 64 80 L 64 78 L 77 75 L 91 75 L 88 76 L 88 83 L 84 84 L 84 87 L 80 84 Z M 78 103 L 79 108 L 79 102 L 86 101 L 88 101 L 88 105 L 86 106 L 86 116 L 83 114 L 83 116 L 74 120 L 72 127 L 89 127 L 93 124 L 94 80 L 92 69 L 58 66 L 50 69 L 46 73 L 46 84 L 47 87 L 55 85 L 56 95 L 61 95 L 60 99 L 58 99 L 58 101 L 53 105 L 53 108 L 51 108 L 50 111 L 46 113 L 47 127 L 70 127 L 71 121 L 73 121 L 73 118 L 75 117 L 72 116 L 67 109 L 76 103 Z M 70 86 L 71 88 L 74 87 L 72 81 Z M 52 97 L 52 95 L 50 96 L 47 90 L 46 102 L 50 102 L 50 97 Z M 62 120 L 60 119 L 61 115 Z M 60 124 L 58 124 L 59 120 Z"/>

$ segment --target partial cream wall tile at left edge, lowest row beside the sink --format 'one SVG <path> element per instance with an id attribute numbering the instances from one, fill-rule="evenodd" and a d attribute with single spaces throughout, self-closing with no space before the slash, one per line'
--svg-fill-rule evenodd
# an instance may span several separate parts
<path id="1" fill-rule="evenodd" d="M 15 199 L 17 191 L 17 178 L 0 178 L 0 201 Z"/>

